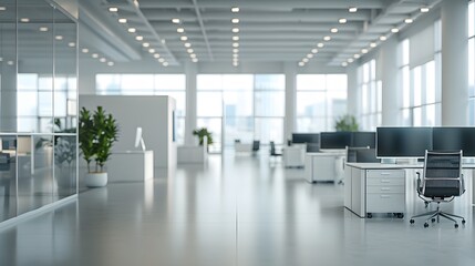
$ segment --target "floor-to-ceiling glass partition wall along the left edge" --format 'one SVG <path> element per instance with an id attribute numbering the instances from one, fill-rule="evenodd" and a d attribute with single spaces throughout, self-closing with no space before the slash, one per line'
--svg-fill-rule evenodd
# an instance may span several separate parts
<path id="1" fill-rule="evenodd" d="M 0 6 L 2 222 L 78 194 L 78 27 L 47 1 Z"/>

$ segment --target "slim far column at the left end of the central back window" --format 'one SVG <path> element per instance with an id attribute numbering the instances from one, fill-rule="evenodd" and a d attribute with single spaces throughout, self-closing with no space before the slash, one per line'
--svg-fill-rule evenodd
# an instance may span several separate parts
<path id="1" fill-rule="evenodd" d="M 187 62 L 186 74 L 186 119 L 185 119 L 185 145 L 195 144 L 193 131 L 196 129 L 196 75 L 197 64 Z"/>

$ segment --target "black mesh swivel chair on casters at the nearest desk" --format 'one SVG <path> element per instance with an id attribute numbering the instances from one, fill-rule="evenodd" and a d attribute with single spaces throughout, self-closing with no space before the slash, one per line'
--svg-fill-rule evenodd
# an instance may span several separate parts
<path id="1" fill-rule="evenodd" d="M 441 202 L 452 202 L 456 196 L 464 194 L 464 177 L 462 175 L 462 151 L 457 152 L 436 152 L 425 151 L 424 174 L 421 181 L 421 174 L 417 173 L 417 195 L 424 202 L 436 202 L 437 209 L 412 216 L 414 218 L 428 216 L 425 219 L 424 227 L 428 227 L 428 221 L 434 223 L 440 217 L 447 218 L 455 223 L 455 218 L 461 218 L 465 224 L 465 218 L 455 214 L 448 214 L 440 209 Z"/>

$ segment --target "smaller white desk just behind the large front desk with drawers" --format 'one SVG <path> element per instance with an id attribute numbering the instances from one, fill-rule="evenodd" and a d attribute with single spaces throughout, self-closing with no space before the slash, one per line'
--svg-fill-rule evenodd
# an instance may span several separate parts
<path id="1" fill-rule="evenodd" d="M 342 180 L 344 152 L 319 152 L 306 154 L 304 177 L 308 182 Z"/>

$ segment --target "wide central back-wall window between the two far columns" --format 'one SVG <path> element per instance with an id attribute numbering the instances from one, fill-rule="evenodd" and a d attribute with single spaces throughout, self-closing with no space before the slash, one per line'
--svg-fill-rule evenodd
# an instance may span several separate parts
<path id="1" fill-rule="evenodd" d="M 235 140 L 282 143 L 283 116 L 283 74 L 197 76 L 197 125 L 213 132 L 211 151 L 220 151 L 221 140 L 227 146 Z"/>

